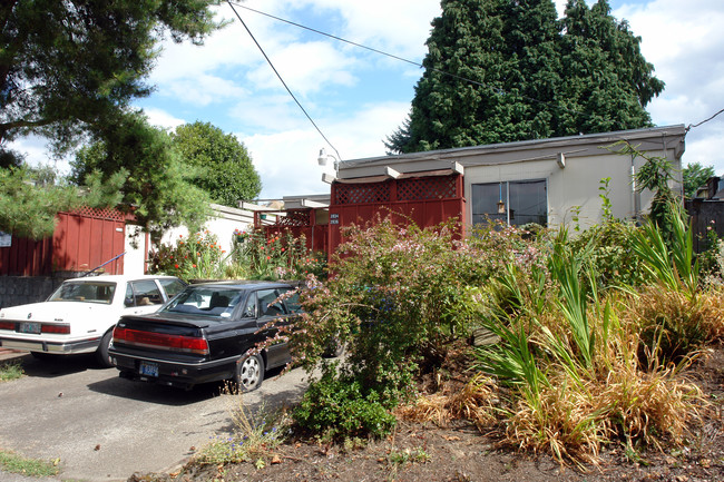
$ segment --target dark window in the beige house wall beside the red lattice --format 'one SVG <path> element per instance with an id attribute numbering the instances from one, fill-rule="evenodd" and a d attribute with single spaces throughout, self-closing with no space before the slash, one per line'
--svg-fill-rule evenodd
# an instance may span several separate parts
<path id="1" fill-rule="evenodd" d="M 472 224 L 499 220 L 512 226 L 548 224 L 546 180 L 472 185 Z"/>

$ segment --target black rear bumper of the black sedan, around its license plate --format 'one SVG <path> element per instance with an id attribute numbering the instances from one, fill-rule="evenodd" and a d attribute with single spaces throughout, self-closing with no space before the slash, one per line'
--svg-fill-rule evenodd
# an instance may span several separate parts
<path id="1" fill-rule="evenodd" d="M 136 355 L 120 353 L 111 348 L 108 351 L 110 361 L 120 371 L 121 378 L 156 383 L 159 385 L 176 386 L 189 390 L 194 385 L 206 382 L 228 380 L 234 376 L 238 356 L 206 362 L 186 362 L 183 360 L 167 360 L 150 355 Z M 140 364 L 147 363 L 158 366 L 158 376 L 145 375 L 140 372 Z"/>

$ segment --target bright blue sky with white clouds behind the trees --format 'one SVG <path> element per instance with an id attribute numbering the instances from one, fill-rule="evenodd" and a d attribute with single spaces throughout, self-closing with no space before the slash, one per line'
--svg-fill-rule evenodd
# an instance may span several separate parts
<path id="1" fill-rule="evenodd" d="M 562 12 L 566 0 L 556 0 Z M 589 6 L 591 1 L 588 1 Z M 664 82 L 647 110 L 656 126 L 696 125 L 724 109 L 724 2 L 609 0 L 626 19 Z M 245 0 L 239 6 L 421 63 L 439 0 Z M 203 46 L 162 50 L 151 96 L 134 105 L 151 124 L 173 129 L 211 122 L 242 141 L 262 178 L 261 198 L 326 194 L 320 148 L 342 160 L 383 156 L 383 140 L 404 120 L 422 75 L 415 65 L 374 53 L 236 7 L 304 111 L 286 92 L 227 3 L 229 23 Z M 325 140 L 324 137 L 326 137 Z M 31 163 L 50 161 L 41 139 L 13 148 Z M 63 169 L 67 163 L 56 161 Z M 724 114 L 686 136 L 683 164 L 714 166 L 724 175 Z M 332 171 L 329 163 L 325 171 Z"/>

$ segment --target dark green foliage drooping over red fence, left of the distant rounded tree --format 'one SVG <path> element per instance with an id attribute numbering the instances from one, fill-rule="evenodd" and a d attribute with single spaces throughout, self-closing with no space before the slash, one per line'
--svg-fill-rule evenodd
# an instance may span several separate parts
<path id="1" fill-rule="evenodd" d="M 96 142 L 79 150 L 71 179 L 89 173 L 102 179 L 128 171 L 121 208 L 133 213 L 154 243 L 170 227 L 198 229 L 208 216 L 208 195 L 192 184 L 189 170 L 166 131 L 149 126 L 140 112 L 125 112 L 115 122 L 94 128 Z"/>

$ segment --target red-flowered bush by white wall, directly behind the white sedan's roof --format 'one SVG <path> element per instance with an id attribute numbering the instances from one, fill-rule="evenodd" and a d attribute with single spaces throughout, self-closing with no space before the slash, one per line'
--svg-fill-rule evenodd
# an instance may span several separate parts
<path id="1" fill-rule="evenodd" d="M 224 275 L 226 250 L 208 230 L 178 236 L 175 246 L 160 245 L 148 259 L 149 273 L 163 273 L 182 279 L 216 279 Z"/>

